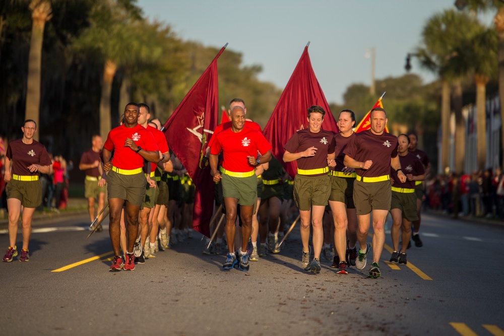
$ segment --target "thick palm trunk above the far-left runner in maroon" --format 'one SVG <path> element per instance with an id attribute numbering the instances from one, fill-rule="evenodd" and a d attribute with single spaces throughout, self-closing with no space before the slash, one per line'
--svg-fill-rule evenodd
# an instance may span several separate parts
<path id="1" fill-rule="evenodd" d="M 28 56 L 28 79 L 26 88 L 25 119 L 32 119 L 39 125 L 40 112 L 40 74 L 42 68 L 42 41 L 44 40 L 44 26 L 51 18 L 51 5 L 46 0 L 32 0 L 32 34 L 30 53 Z M 33 136 L 39 140 L 39 132 Z"/>

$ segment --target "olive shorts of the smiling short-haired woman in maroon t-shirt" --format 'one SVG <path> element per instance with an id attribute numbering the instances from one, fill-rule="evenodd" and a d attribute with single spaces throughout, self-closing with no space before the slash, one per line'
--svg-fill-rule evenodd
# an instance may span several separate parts
<path id="1" fill-rule="evenodd" d="M 309 211 L 312 206 L 327 206 L 331 194 L 329 175 L 294 177 L 294 202 L 300 211 Z"/>

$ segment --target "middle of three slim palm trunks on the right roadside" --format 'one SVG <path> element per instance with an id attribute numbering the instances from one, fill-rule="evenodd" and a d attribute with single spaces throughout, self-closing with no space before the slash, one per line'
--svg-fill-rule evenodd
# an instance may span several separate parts
<path id="1" fill-rule="evenodd" d="M 466 123 L 462 115 L 462 83 L 453 82 L 453 110 L 455 111 L 455 171 L 464 171 L 464 153 L 466 151 Z"/>

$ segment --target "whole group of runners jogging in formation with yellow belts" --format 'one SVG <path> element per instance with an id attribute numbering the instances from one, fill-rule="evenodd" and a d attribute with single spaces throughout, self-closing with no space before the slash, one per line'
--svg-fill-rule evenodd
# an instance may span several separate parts
<path id="1" fill-rule="evenodd" d="M 320 106 L 309 107 L 308 127 L 295 132 L 284 145 L 282 160 L 296 161 L 298 166 L 292 181 L 272 156 L 260 125 L 246 119 L 244 101 L 231 100 L 230 121 L 217 126 L 208 144 L 215 204 L 220 205 L 214 218 L 221 220 L 211 223 L 217 238 L 213 242 L 207 238 L 203 251 L 227 252 L 225 270 L 236 266 L 248 271 L 249 261 L 259 260 L 267 251 L 280 251 L 291 198 L 299 210 L 304 271 L 319 273 L 321 254 L 333 260 L 337 274 L 348 274 L 350 266 L 363 270 L 372 246 L 368 277 L 380 277 L 389 212 L 394 247 L 390 261 L 407 263 L 411 236 L 416 246 L 422 246 L 420 204 L 429 163 L 425 153 L 416 149 L 416 136 L 385 132 L 387 115 L 380 107 L 371 110 L 370 129 L 359 133 L 353 131 L 351 110 L 340 112 L 336 134 L 322 129 L 325 113 Z M 192 223 L 194 184 L 180 161 L 170 155 L 159 121 L 149 122 L 150 116 L 146 104 L 129 103 L 120 126 L 109 132 L 104 144 L 94 136 L 92 148 L 82 155 L 79 165 L 86 173 L 91 221 L 95 199 L 97 219 L 106 216 L 108 199 L 114 252 L 110 271 L 134 270 L 136 263 L 144 263 L 146 257 L 169 248 L 177 236 L 183 237 L 184 227 L 187 232 Z M 20 214 L 19 260 L 29 260 L 31 220 L 41 202 L 39 172 L 51 169 L 45 148 L 33 140 L 35 122 L 26 120 L 22 131 L 23 138 L 10 142 L 6 154 L 10 246 L 3 261 L 7 262 L 18 254 Z M 217 224 L 223 220 L 226 243 Z M 372 245 L 367 242 L 371 223 Z"/>

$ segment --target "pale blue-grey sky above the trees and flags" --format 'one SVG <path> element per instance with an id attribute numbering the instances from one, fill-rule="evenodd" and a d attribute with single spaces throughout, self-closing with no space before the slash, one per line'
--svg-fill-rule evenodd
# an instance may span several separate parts
<path id="1" fill-rule="evenodd" d="M 310 42 L 311 65 L 329 103 L 343 104 L 351 84 L 402 76 L 406 54 L 420 44 L 427 20 L 455 0 L 138 0 L 150 20 L 164 22 L 183 40 L 242 54 L 243 65 L 259 64 L 261 81 L 283 89 Z M 485 25 L 491 14 L 480 16 Z M 225 52 L 225 51 L 224 51 Z M 412 59 L 411 73 L 435 80 Z M 382 94 L 376 88 L 378 98 Z M 246 97 L 243 97 L 246 100 Z"/>

